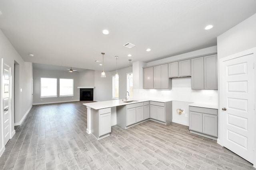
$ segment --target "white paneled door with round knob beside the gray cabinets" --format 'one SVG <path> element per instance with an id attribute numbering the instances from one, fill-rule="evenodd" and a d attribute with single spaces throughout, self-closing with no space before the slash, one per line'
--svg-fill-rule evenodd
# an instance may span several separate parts
<path id="1" fill-rule="evenodd" d="M 220 114 L 223 146 L 253 162 L 255 73 L 254 53 L 220 62 Z"/>

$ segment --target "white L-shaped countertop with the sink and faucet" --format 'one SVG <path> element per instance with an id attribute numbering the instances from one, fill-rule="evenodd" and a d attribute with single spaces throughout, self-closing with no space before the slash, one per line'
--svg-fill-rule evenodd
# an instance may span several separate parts
<path id="1" fill-rule="evenodd" d="M 84 103 L 84 106 L 91 107 L 92 109 L 98 110 L 98 109 L 104 109 L 108 107 L 115 107 L 115 106 L 123 106 L 127 104 L 134 104 L 139 102 L 147 102 L 147 101 L 155 101 L 155 102 L 170 102 L 170 100 L 149 100 L 149 99 L 129 99 L 130 100 L 136 100 L 136 102 L 130 102 L 125 103 L 125 99 L 119 99 L 119 100 L 107 100 L 102 102 L 92 102 L 92 103 Z"/>

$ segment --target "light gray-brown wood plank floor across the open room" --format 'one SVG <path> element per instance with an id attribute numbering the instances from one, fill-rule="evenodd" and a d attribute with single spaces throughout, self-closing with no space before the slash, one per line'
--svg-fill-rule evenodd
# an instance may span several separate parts
<path id="1" fill-rule="evenodd" d="M 97 141 L 86 133 L 85 102 L 33 106 L 0 157 L 0 170 L 252 170 L 252 164 L 188 127 L 147 121 L 112 127 Z"/>

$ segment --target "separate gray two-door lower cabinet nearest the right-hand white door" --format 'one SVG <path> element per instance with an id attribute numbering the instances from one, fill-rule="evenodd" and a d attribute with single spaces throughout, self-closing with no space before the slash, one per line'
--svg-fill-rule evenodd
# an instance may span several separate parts
<path id="1" fill-rule="evenodd" d="M 189 129 L 218 137 L 218 109 L 189 106 Z"/>

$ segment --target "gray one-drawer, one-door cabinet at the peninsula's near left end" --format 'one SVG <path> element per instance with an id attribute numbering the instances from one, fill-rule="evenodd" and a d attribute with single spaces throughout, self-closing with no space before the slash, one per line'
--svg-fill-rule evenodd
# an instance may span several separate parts
<path id="1" fill-rule="evenodd" d="M 111 133 L 111 108 L 91 109 L 92 111 L 92 135 L 97 139 Z"/>

